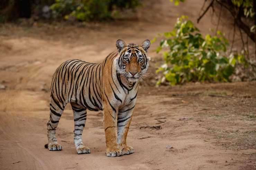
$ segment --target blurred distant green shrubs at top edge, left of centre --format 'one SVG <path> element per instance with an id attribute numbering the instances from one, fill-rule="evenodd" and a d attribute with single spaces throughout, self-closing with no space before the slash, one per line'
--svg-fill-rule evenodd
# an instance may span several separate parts
<path id="1" fill-rule="evenodd" d="M 56 0 L 51 9 L 55 18 L 92 21 L 111 19 L 114 10 L 135 9 L 139 5 L 139 0 Z"/>

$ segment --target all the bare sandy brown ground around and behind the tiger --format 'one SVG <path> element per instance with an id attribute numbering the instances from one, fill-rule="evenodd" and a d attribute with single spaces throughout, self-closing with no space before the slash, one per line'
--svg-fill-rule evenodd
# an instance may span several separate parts
<path id="1" fill-rule="evenodd" d="M 0 90 L 0 169 L 255 169 L 255 81 L 142 86 L 127 139 L 135 153 L 117 158 L 105 155 L 102 112 L 89 112 L 83 131 L 91 154 L 76 154 L 68 105 L 57 129 L 64 149 L 44 148 L 51 76 L 62 61 L 101 62 L 116 49 L 117 39 L 153 39 L 172 28 L 177 13 L 195 21 L 198 4 L 146 1 L 127 22 L 2 25 L 0 84 L 6 89 Z M 214 27 L 210 18 L 198 25 L 203 33 Z M 158 42 L 150 47 L 153 59 L 159 57 L 153 51 Z"/>

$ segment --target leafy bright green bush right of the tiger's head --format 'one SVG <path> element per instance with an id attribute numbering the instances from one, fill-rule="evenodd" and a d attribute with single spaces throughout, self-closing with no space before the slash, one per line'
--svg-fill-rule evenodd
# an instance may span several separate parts
<path id="1" fill-rule="evenodd" d="M 204 38 L 188 17 L 177 19 L 171 32 L 163 34 L 157 52 L 163 52 L 165 64 L 157 72 L 163 73 L 162 80 L 171 85 L 186 81 L 230 81 L 236 63 L 246 63 L 241 54 L 225 55 L 228 40 L 220 31 L 217 36 L 207 34 Z"/>

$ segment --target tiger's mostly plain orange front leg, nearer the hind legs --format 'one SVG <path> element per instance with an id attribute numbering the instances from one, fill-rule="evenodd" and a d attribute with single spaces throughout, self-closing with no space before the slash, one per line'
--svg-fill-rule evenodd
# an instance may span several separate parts
<path id="1" fill-rule="evenodd" d="M 106 154 L 107 157 L 122 156 L 122 147 L 117 144 L 117 131 L 116 131 L 116 110 L 109 106 L 104 105 L 103 109 L 103 122 L 106 137 Z"/>

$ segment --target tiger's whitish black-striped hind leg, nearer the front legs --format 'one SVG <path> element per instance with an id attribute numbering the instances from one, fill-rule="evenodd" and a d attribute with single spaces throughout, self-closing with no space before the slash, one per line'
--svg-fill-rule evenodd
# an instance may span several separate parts
<path id="1" fill-rule="evenodd" d="M 74 123 L 75 123 L 75 129 L 74 129 L 74 143 L 77 154 L 84 154 L 84 153 L 91 153 L 90 148 L 84 146 L 82 141 L 82 132 L 85 126 L 86 122 L 86 108 L 71 103 L 73 114 L 74 114 Z"/>

